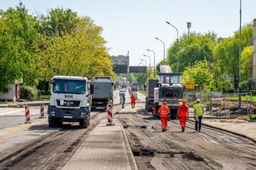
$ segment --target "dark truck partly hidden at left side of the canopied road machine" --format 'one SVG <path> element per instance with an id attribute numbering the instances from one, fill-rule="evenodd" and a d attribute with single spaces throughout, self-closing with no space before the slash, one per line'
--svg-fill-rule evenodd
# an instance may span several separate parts
<path id="1" fill-rule="evenodd" d="M 154 107 L 154 88 L 156 88 L 157 86 L 158 86 L 157 79 L 149 80 L 149 83 L 146 89 L 146 102 L 145 102 L 145 108 L 149 112 L 152 112 L 152 109 Z"/>

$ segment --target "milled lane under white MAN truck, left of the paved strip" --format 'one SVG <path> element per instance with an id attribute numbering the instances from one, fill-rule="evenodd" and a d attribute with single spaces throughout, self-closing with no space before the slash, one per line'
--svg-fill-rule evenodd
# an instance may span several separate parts
<path id="1" fill-rule="evenodd" d="M 66 125 L 51 132 L 0 160 L 0 169 L 61 169 L 102 117 L 100 112 L 91 113 L 90 126 L 86 129 Z"/>

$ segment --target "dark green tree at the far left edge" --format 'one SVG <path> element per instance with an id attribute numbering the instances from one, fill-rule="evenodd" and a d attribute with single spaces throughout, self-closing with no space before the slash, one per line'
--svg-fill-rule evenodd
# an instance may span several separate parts
<path id="1" fill-rule="evenodd" d="M 21 77 L 25 84 L 34 84 L 37 18 L 28 14 L 20 2 L 15 9 L 1 11 L 0 25 L 0 89 Z"/>

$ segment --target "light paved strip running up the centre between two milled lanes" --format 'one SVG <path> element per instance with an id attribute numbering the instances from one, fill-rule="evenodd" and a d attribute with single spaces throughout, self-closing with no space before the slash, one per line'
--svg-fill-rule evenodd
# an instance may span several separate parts
<path id="1" fill-rule="evenodd" d="M 70 169 L 138 169 L 121 123 L 101 121 L 62 168 Z"/>

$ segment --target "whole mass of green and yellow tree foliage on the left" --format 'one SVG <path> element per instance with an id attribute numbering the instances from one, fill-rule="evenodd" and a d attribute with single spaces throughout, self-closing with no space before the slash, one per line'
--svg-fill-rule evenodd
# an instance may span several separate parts
<path id="1" fill-rule="evenodd" d="M 38 85 L 54 75 L 114 77 L 102 27 L 70 9 L 28 14 L 20 2 L 0 11 L 0 90 L 15 79 Z"/>

